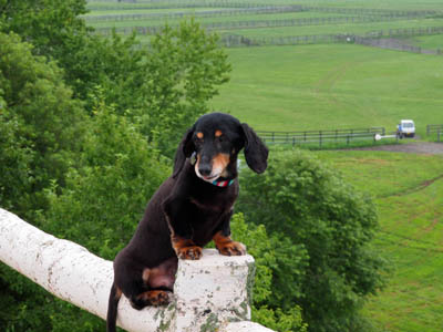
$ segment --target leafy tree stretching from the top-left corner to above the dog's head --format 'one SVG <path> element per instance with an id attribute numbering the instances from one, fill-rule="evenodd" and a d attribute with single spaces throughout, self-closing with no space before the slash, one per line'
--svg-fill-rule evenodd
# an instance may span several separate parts
<path id="1" fill-rule="evenodd" d="M 94 89 L 119 114 L 143 120 L 143 133 L 172 157 L 182 133 L 206 113 L 230 65 L 218 37 L 194 20 L 165 27 L 142 45 L 135 34 L 94 35 L 79 15 L 84 0 L 0 0 L 0 31 L 31 42 L 33 54 L 55 60 L 73 95 L 91 111 Z"/>

